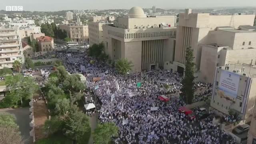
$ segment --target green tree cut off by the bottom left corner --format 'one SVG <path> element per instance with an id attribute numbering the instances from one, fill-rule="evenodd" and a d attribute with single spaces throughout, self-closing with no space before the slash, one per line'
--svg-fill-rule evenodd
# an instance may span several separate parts
<path id="1" fill-rule="evenodd" d="M 1 144 L 24 144 L 16 118 L 11 114 L 0 114 L 0 142 Z"/>

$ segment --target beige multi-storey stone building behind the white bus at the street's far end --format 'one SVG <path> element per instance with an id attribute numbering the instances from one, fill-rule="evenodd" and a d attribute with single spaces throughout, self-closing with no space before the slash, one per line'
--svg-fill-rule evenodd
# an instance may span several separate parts
<path id="1" fill-rule="evenodd" d="M 75 24 L 60 24 L 60 29 L 66 31 L 72 42 L 84 43 L 89 40 L 88 26 Z"/>

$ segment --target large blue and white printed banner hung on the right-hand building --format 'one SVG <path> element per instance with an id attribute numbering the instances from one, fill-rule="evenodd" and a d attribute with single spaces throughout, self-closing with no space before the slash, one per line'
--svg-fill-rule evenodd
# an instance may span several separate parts
<path id="1" fill-rule="evenodd" d="M 219 89 L 224 91 L 227 96 L 236 98 L 240 75 L 233 72 L 222 70 L 220 75 Z"/>

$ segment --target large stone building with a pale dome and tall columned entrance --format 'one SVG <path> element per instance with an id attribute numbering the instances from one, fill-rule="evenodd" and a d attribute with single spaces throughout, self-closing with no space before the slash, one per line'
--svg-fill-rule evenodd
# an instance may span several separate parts
<path id="1" fill-rule="evenodd" d="M 146 16 L 133 7 L 114 24 L 103 25 L 105 52 L 112 60 L 127 58 L 133 71 L 150 70 L 172 61 L 176 16 Z"/>

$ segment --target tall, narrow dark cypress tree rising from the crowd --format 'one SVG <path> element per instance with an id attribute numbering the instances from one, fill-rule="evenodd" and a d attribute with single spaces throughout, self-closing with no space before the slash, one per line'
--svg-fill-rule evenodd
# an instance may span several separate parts
<path id="1" fill-rule="evenodd" d="M 193 49 L 188 47 L 185 56 L 185 76 L 181 82 L 181 96 L 187 104 L 191 104 L 194 98 L 194 56 Z"/>

